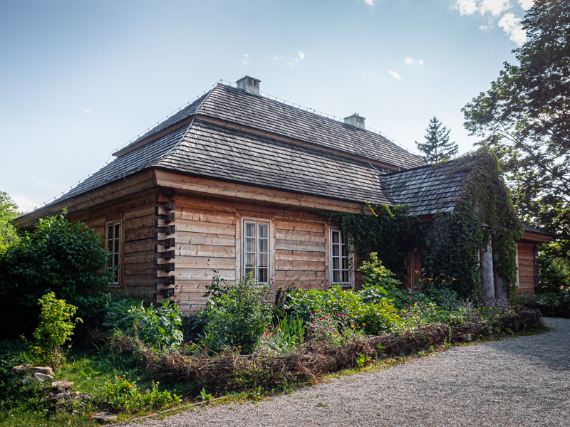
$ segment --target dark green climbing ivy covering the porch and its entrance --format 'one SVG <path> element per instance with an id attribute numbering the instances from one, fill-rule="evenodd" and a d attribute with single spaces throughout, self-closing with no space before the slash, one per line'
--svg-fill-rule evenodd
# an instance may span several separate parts
<path id="1" fill-rule="evenodd" d="M 480 295 L 479 251 L 489 238 L 494 265 L 505 290 L 514 291 L 517 241 L 523 228 L 504 184 L 497 157 L 487 147 L 455 161 L 449 174 L 464 174 L 453 212 L 435 214 L 430 223 L 408 214 L 407 206 L 368 205 L 361 214 L 328 214 L 340 223 L 343 235 L 361 260 L 378 252 L 384 265 L 405 280 L 409 248 L 420 248 L 426 273 L 448 275 L 447 283 L 460 295 Z"/>

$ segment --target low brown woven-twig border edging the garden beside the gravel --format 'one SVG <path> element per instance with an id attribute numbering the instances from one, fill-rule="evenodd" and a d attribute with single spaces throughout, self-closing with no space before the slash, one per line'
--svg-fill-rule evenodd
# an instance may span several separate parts
<path id="1" fill-rule="evenodd" d="M 408 356 L 445 343 L 472 342 L 485 337 L 544 329 L 538 310 L 519 312 L 489 322 L 465 322 L 457 326 L 427 325 L 403 334 L 382 334 L 345 344 L 310 341 L 290 354 L 240 355 L 230 351 L 214 357 L 159 354 L 139 346 L 132 339 L 113 341 L 117 354 L 135 355 L 137 364 L 155 379 L 199 384 L 210 393 L 224 393 L 261 386 L 272 389 L 282 381 L 309 381 L 323 374 L 357 366 L 359 358 L 382 359 Z"/>

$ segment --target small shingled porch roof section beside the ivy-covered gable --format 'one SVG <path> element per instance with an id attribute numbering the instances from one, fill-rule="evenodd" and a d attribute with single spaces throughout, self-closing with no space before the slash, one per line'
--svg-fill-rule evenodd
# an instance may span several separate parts
<path id="1" fill-rule="evenodd" d="M 390 204 L 407 204 L 410 214 L 450 212 L 460 199 L 463 177 L 455 162 L 429 165 L 380 176 L 380 186 Z"/>

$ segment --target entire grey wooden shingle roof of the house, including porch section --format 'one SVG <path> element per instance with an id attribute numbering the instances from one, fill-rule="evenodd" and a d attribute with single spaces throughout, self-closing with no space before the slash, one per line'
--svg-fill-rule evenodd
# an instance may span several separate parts
<path id="1" fill-rule="evenodd" d="M 53 204 L 157 168 L 358 203 L 409 204 L 418 215 L 452 210 L 462 175 L 452 162 L 423 164 L 374 132 L 217 85 Z"/>

